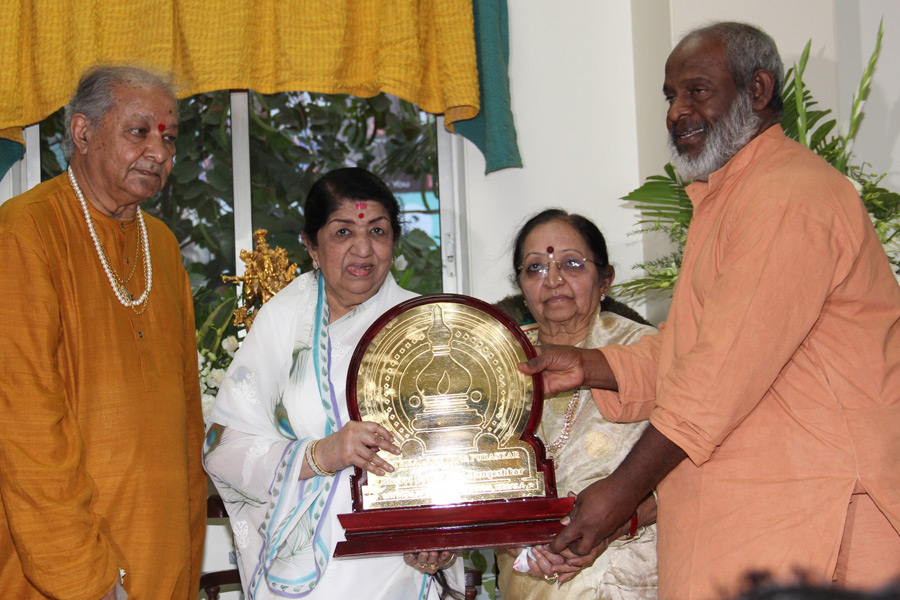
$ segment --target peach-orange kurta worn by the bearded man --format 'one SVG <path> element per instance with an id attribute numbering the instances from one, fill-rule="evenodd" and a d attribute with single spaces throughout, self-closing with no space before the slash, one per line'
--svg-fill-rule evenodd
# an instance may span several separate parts
<path id="1" fill-rule="evenodd" d="M 659 486 L 659 595 L 830 582 L 854 490 L 900 530 L 900 287 L 850 183 L 778 126 L 687 191 L 668 322 L 605 348 L 619 394 L 594 394 L 690 458 Z"/>

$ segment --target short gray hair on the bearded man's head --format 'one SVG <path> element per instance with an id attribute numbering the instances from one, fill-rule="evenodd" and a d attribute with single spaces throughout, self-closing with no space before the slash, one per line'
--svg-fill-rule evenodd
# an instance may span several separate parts
<path id="1" fill-rule="evenodd" d="M 769 106 L 775 117 L 781 119 L 784 113 L 784 100 L 781 97 L 784 89 L 784 63 L 775 40 L 769 34 L 746 23 L 723 21 L 694 29 L 684 39 L 689 37 L 712 39 L 725 47 L 728 70 L 735 86 L 741 91 L 747 91 L 756 71 L 762 69 L 771 73 L 775 79 L 775 89 Z"/>

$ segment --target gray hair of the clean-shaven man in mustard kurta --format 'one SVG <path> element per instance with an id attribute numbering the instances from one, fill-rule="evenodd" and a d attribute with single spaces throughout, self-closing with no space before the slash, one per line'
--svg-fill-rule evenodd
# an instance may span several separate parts
<path id="1" fill-rule="evenodd" d="M 96 128 L 115 103 L 113 90 L 120 85 L 134 87 L 159 87 L 175 100 L 170 77 L 126 65 L 99 65 L 91 67 L 81 76 L 75 93 L 66 105 L 65 155 L 69 159 L 75 151 L 72 140 L 72 116 L 82 114 Z"/>

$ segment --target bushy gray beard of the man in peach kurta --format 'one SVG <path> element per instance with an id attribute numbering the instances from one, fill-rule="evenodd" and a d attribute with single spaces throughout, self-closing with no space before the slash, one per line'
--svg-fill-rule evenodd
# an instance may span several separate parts
<path id="1" fill-rule="evenodd" d="M 679 154 L 671 134 L 668 136 L 675 172 L 682 181 L 708 180 L 710 173 L 724 167 L 756 137 L 761 124 L 762 119 L 753 112 L 750 94 L 738 94 L 728 114 L 706 130 L 706 143 L 696 157 Z"/>

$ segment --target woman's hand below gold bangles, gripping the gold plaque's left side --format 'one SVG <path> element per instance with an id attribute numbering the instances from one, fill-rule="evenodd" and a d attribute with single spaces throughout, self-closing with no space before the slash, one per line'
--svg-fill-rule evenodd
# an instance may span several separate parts
<path id="1" fill-rule="evenodd" d="M 378 456 L 379 450 L 400 454 L 390 432 L 378 423 L 349 421 L 340 431 L 319 441 L 316 461 L 329 471 L 354 466 L 375 475 L 393 472 L 394 467 Z"/>

